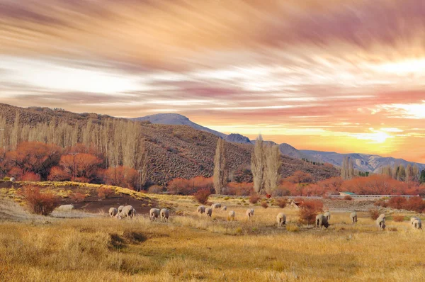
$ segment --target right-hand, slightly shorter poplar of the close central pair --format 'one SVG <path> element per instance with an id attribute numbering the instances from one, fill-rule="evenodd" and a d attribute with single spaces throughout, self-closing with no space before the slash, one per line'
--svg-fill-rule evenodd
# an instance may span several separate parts
<path id="1" fill-rule="evenodd" d="M 265 189 L 269 194 L 279 185 L 280 167 L 282 167 L 282 160 L 280 159 L 279 146 L 274 145 L 266 147 Z"/>

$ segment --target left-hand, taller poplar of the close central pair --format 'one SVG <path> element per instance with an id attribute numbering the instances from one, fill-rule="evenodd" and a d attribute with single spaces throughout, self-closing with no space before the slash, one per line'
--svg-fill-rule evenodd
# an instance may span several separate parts
<path id="1" fill-rule="evenodd" d="M 264 173 L 266 167 L 266 154 L 264 150 L 263 137 L 259 135 L 255 142 L 254 153 L 251 156 L 251 171 L 254 179 L 254 191 L 262 193 L 264 191 Z"/>

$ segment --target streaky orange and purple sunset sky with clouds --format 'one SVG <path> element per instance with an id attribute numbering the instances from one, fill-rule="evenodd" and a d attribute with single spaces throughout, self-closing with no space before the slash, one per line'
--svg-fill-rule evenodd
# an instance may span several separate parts
<path id="1" fill-rule="evenodd" d="M 425 1 L 0 0 L 0 102 L 425 163 Z"/>

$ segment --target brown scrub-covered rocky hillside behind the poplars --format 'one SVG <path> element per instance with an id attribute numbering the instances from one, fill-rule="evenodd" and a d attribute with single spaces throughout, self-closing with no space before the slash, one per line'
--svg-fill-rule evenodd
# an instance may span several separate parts
<path id="1" fill-rule="evenodd" d="M 21 125 L 33 126 L 37 123 L 66 122 L 81 126 L 90 119 L 94 123 L 102 123 L 108 115 L 95 113 L 70 113 L 49 108 L 17 108 L 0 104 L 0 118 L 6 118 L 7 123 L 13 123 L 16 111 L 20 115 Z M 212 176 L 217 135 L 200 131 L 188 125 L 162 125 L 140 123 L 142 135 L 147 140 L 149 155 L 148 179 L 152 184 L 165 185 L 171 179 L 181 177 L 191 179 L 194 176 Z M 227 143 L 227 161 L 229 170 L 249 167 L 251 144 Z M 294 171 L 309 172 L 314 179 L 326 179 L 336 176 L 336 169 L 314 166 L 299 159 L 283 157 L 283 176 L 290 176 Z"/>

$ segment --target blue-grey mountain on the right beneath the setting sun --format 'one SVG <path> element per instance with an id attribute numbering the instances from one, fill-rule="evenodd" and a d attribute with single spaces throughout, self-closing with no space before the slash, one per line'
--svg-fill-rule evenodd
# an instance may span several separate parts
<path id="1" fill-rule="evenodd" d="M 425 169 L 425 164 L 415 162 L 407 162 L 405 159 L 395 159 L 393 157 L 381 157 L 376 154 L 339 154 L 336 152 L 322 152 L 313 150 L 300 150 L 302 154 L 307 156 L 307 159 L 314 159 L 318 162 L 327 162 L 334 166 L 341 167 L 345 157 L 350 157 L 354 161 L 354 168 L 361 171 L 370 171 L 378 173 L 381 167 L 387 165 L 394 166 L 394 164 L 402 164 L 404 167 L 407 164 L 417 164 L 419 169 Z"/>

